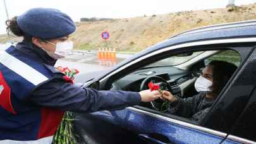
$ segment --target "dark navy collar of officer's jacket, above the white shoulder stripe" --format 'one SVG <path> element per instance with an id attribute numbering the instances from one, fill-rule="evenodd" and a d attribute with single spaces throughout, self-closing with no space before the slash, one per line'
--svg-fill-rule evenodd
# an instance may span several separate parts
<path id="1" fill-rule="evenodd" d="M 39 61 L 43 64 L 54 66 L 57 61 L 56 59 L 53 59 L 51 56 L 49 56 L 46 51 L 32 44 L 32 42 L 23 40 L 16 45 L 16 49 L 19 49 L 24 54 L 32 57 L 32 59 L 35 61 Z"/>

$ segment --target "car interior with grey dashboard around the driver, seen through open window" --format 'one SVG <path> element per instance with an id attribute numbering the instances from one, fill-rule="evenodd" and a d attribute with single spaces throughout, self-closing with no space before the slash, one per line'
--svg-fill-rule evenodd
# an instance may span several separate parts
<path id="1" fill-rule="evenodd" d="M 176 97 L 182 99 L 192 97 L 198 93 L 194 87 L 195 80 L 212 60 L 227 61 L 236 66 L 241 63 L 240 54 L 233 50 L 182 52 L 147 64 L 119 78 L 112 83 L 111 90 L 140 92 L 149 89 L 148 83 L 152 81 L 158 84 L 161 90 L 168 90 Z M 165 100 L 157 99 L 153 102 L 142 102 L 135 107 L 170 116 L 168 114 L 170 104 Z M 184 119 L 184 117 L 175 118 Z M 190 120 L 185 118 L 185 121 Z"/>

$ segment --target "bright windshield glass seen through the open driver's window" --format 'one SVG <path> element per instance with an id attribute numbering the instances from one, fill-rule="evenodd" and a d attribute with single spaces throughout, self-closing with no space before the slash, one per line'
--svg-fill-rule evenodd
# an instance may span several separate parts
<path id="1" fill-rule="evenodd" d="M 144 68 L 149 68 L 149 67 L 157 67 L 157 66 L 176 66 L 182 63 L 185 63 L 186 61 L 189 61 L 193 57 L 198 56 L 199 54 L 202 54 L 203 52 L 193 52 L 190 56 L 172 56 L 168 57 L 166 59 L 162 59 L 161 61 L 157 61 L 155 63 L 149 64 L 145 66 Z"/>

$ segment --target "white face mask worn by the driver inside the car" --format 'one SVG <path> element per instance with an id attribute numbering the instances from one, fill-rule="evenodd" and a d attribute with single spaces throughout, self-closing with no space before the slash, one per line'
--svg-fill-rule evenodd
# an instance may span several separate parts
<path id="1" fill-rule="evenodd" d="M 197 92 L 209 92 L 211 91 L 210 86 L 212 86 L 212 81 L 207 80 L 203 76 L 199 76 L 195 81 L 195 90 Z"/>

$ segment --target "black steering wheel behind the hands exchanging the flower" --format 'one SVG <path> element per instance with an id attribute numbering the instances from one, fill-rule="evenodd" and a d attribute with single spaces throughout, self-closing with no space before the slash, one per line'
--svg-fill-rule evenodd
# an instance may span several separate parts
<path id="1" fill-rule="evenodd" d="M 172 92 L 171 85 L 166 80 L 164 80 L 159 76 L 149 76 L 145 78 L 145 80 L 143 80 L 142 84 L 140 85 L 140 91 L 149 89 L 148 84 L 150 83 L 150 81 L 152 81 L 153 83 L 157 81 L 157 83 L 160 83 L 159 86 L 161 90 L 168 90 L 169 92 Z M 168 111 L 169 104 L 166 105 L 164 110 L 162 110 L 162 106 L 164 105 L 165 102 L 166 102 L 165 100 L 157 99 L 150 102 L 150 104 L 153 109 L 161 112 L 166 112 Z"/>

